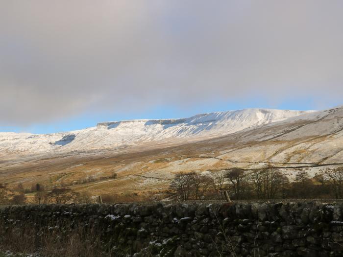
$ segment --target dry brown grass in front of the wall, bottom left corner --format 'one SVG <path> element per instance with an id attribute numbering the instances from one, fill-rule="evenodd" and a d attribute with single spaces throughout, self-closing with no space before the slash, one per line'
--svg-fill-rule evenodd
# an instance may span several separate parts
<path id="1" fill-rule="evenodd" d="M 5 228 L 0 226 L 0 247 L 11 253 L 31 254 L 39 252 L 46 257 L 109 257 L 110 249 L 100 241 L 93 230 L 80 228 L 32 228 L 29 226 Z M 19 243 L 20 242 L 20 243 Z"/>

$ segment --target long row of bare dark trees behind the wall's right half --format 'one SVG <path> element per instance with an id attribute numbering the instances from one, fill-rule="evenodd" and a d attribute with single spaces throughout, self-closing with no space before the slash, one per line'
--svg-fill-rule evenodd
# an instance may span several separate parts
<path id="1" fill-rule="evenodd" d="M 314 177 L 299 169 L 292 179 L 273 167 L 178 173 L 169 185 L 171 197 L 178 200 L 224 200 L 224 191 L 236 200 L 342 199 L 343 167 L 322 169 Z"/>

